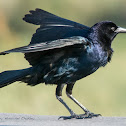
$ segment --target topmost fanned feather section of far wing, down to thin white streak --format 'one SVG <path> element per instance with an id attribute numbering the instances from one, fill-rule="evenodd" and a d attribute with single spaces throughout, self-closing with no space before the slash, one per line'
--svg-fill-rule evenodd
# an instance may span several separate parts
<path id="1" fill-rule="evenodd" d="M 88 29 L 89 27 L 84 26 L 82 24 L 76 23 L 74 21 L 70 21 L 54 14 L 51 14 L 42 9 L 36 9 L 29 11 L 30 14 L 26 14 L 23 18 L 24 21 L 28 23 L 32 23 L 35 25 L 44 26 L 67 26 L 67 27 L 76 27 L 82 29 Z"/>

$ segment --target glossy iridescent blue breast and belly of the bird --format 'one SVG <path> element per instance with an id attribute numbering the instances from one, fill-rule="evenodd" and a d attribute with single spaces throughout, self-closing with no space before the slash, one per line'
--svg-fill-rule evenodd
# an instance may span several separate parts
<path id="1" fill-rule="evenodd" d="M 71 83 L 95 72 L 107 63 L 107 53 L 97 47 L 88 48 L 78 57 L 63 59 L 51 72 L 45 75 L 46 83 Z"/>

